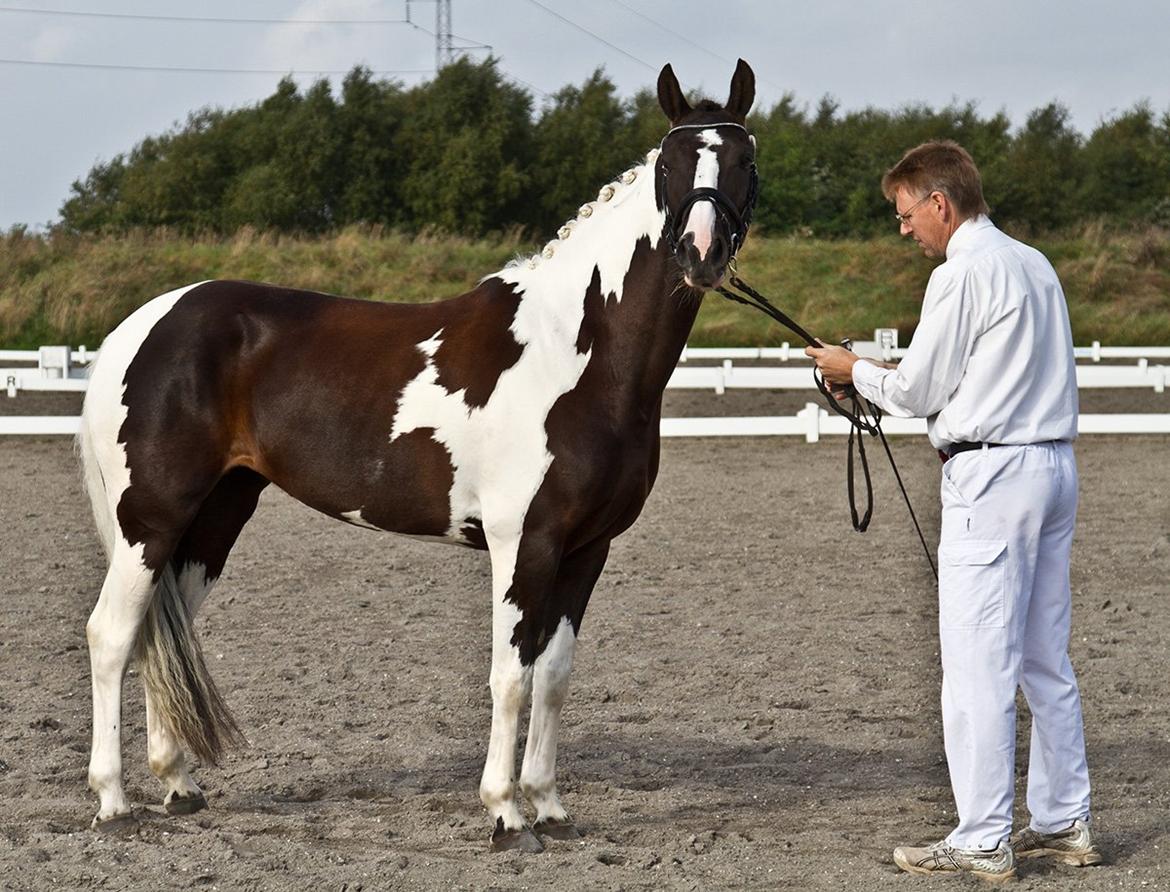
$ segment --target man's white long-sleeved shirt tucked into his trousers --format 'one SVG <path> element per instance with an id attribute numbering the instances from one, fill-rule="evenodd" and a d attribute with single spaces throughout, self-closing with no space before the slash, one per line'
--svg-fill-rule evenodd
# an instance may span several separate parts
<path id="1" fill-rule="evenodd" d="M 1076 369 L 1057 272 L 986 217 L 947 243 L 897 369 L 859 361 L 858 392 L 925 418 L 930 442 L 1028 444 L 1076 437 Z"/>

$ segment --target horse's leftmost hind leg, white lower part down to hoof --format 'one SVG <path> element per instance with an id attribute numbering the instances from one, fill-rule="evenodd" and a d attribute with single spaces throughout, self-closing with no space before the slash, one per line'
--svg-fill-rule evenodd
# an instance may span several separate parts
<path id="1" fill-rule="evenodd" d="M 131 816 L 122 787 L 122 679 L 154 592 L 154 574 L 143 553 L 140 546 L 118 537 L 102 593 L 85 625 L 94 686 L 89 787 L 101 801 L 95 829 L 118 826 Z"/>

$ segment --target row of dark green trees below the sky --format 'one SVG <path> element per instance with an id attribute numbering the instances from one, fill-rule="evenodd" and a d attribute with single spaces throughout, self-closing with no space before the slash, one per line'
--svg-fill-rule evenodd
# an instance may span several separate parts
<path id="1" fill-rule="evenodd" d="M 1000 224 L 1170 226 L 1170 111 L 1144 102 L 1087 137 L 1060 103 L 1013 129 L 975 103 L 841 112 L 828 97 L 808 108 L 785 95 L 749 123 L 759 144 L 753 225 L 772 234 L 890 231 L 882 172 L 938 138 L 971 151 Z M 651 90 L 621 97 L 601 70 L 539 109 L 494 59 L 459 61 L 412 88 L 360 67 L 337 95 L 324 80 L 302 91 L 284 78 L 255 105 L 202 109 L 95 165 L 73 184 L 56 228 L 321 233 L 366 224 L 539 235 L 665 131 Z"/>

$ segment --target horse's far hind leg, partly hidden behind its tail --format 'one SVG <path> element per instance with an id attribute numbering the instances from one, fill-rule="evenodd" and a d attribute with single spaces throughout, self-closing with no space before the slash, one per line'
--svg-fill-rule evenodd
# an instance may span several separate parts
<path id="1" fill-rule="evenodd" d="M 200 506 L 184 533 L 167 568 L 164 584 L 178 586 L 190 619 L 215 584 L 240 530 L 256 509 L 268 481 L 246 468 L 225 474 Z M 143 679 L 146 689 L 146 756 L 151 773 L 164 788 L 167 814 L 190 815 L 207 807 L 202 790 L 191 777 L 181 741 L 164 719 L 159 695 Z"/>

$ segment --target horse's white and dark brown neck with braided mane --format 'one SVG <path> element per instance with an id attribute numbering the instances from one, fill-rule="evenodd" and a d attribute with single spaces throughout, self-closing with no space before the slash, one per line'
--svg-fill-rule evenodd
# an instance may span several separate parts
<path id="1" fill-rule="evenodd" d="M 661 397 L 698 311 L 689 289 L 673 293 L 677 270 L 662 239 L 656 157 L 603 187 L 539 254 L 496 274 L 523 290 L 522 303 L 531 301 L 515 334 L 555 332 L 577 349 L 603 351 L 614 385 L 638 402 Z"/>

